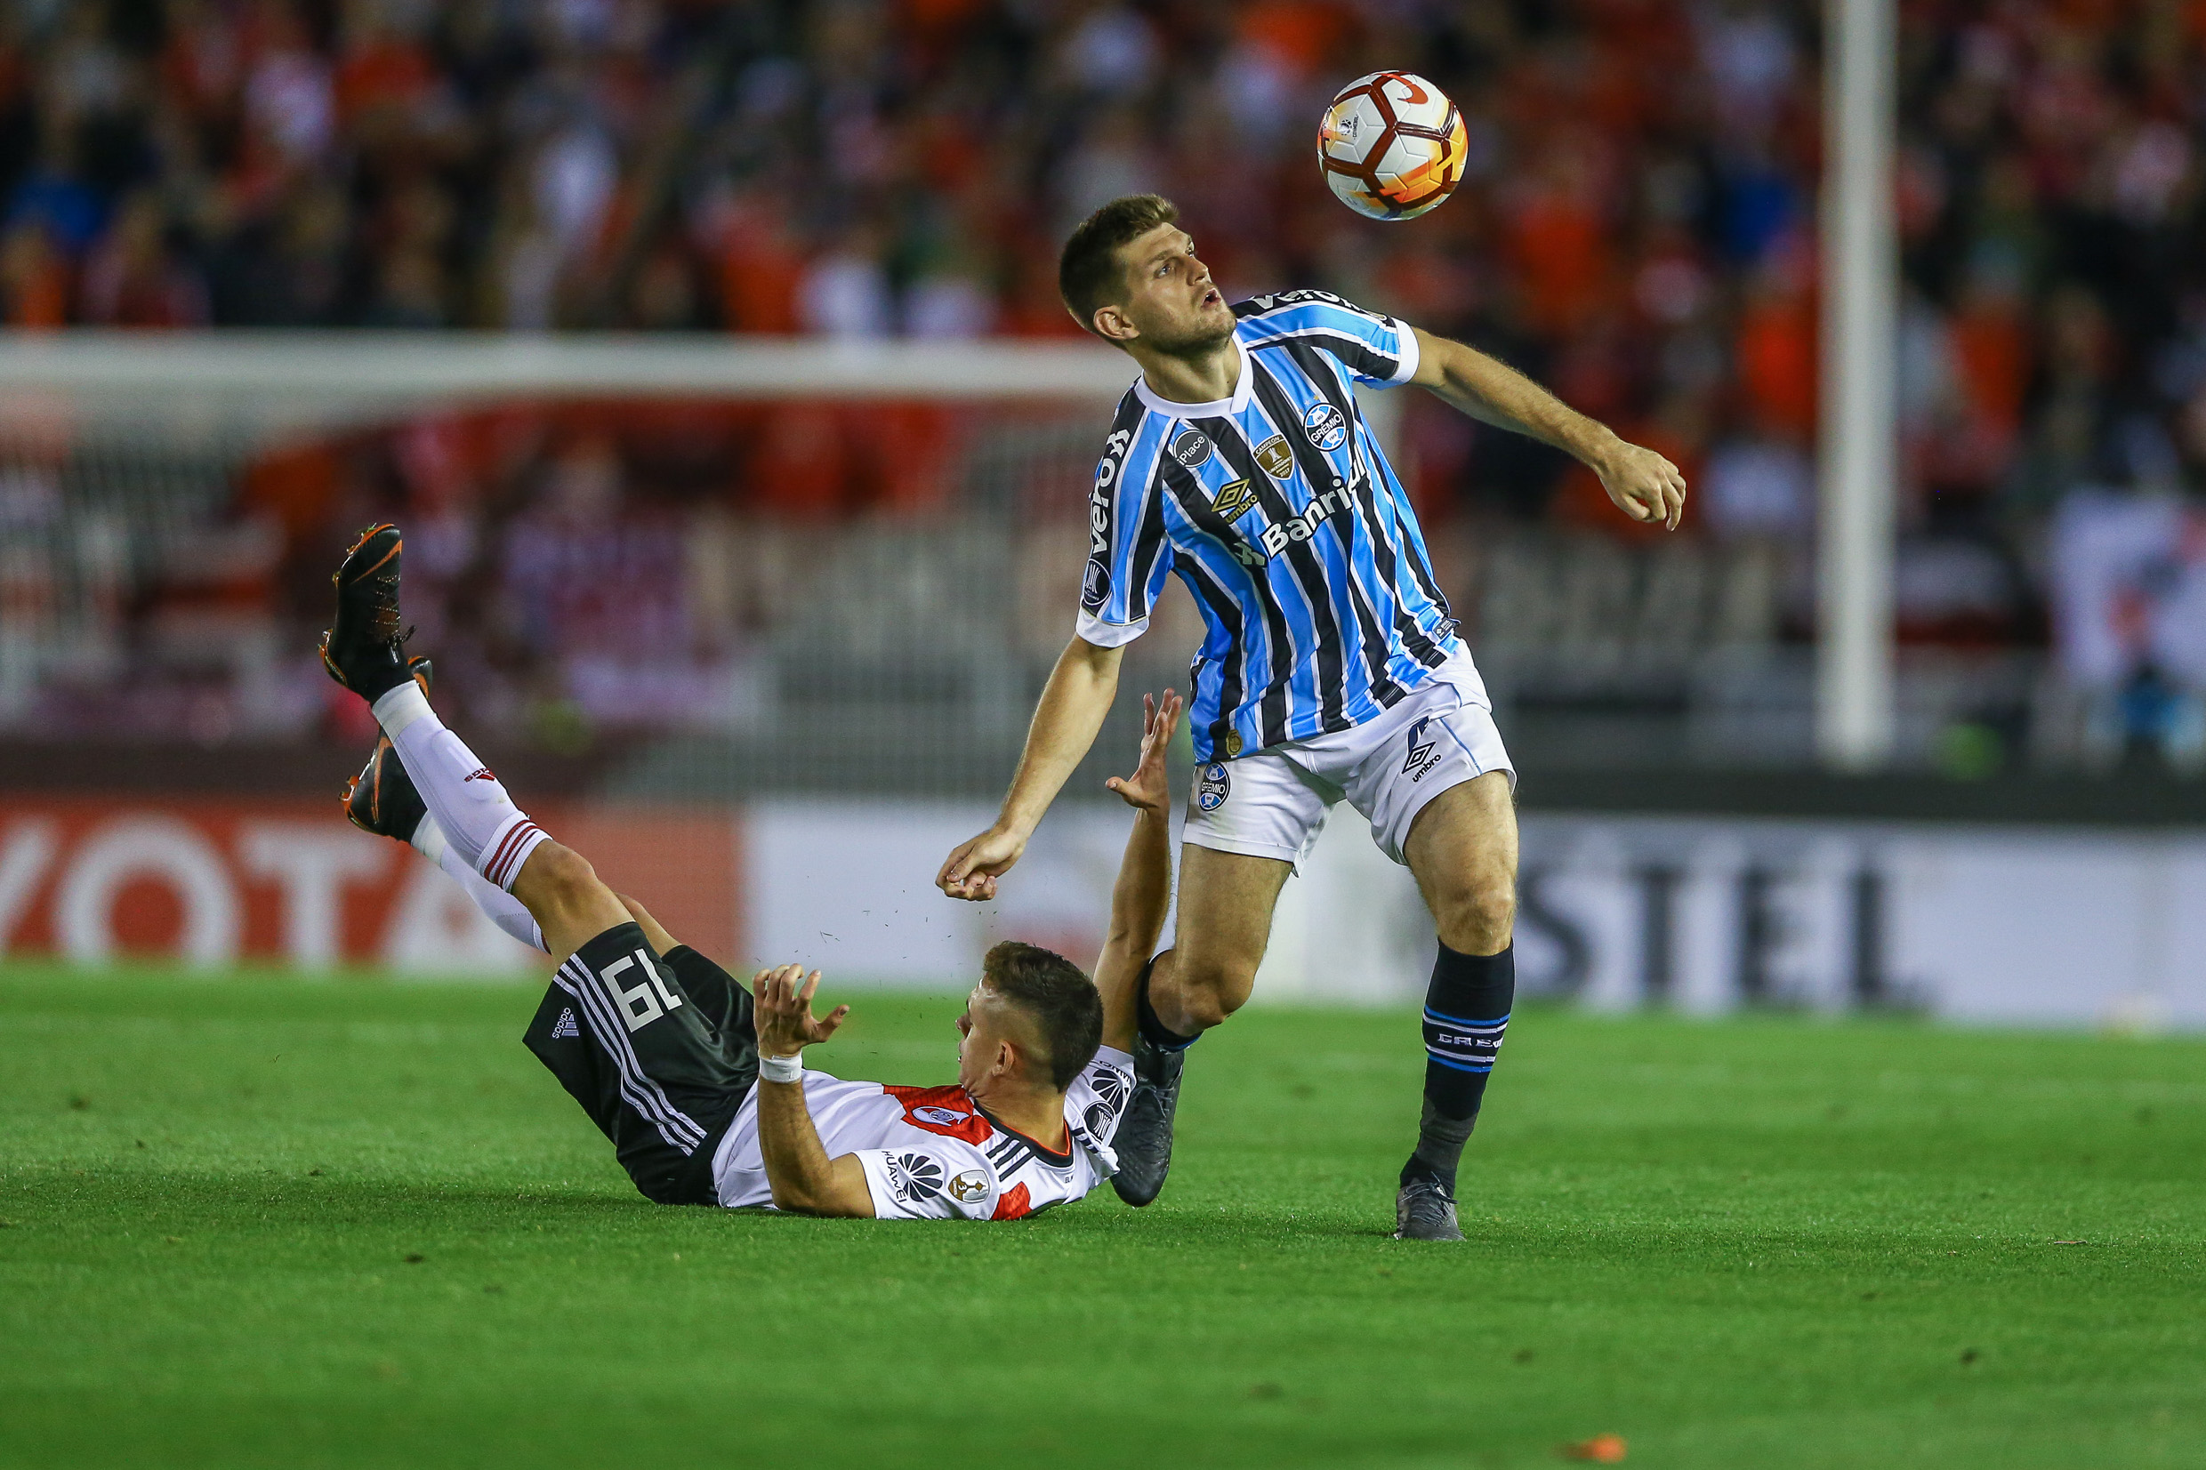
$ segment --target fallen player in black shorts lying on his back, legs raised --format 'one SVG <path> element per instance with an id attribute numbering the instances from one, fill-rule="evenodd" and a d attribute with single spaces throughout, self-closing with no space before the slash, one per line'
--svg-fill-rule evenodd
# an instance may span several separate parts
<path id="1" fill-rule="evenodd" d="M 1050 950 L 999 943 L 957 1018 L 955 1084 L 845 1082 L 803 1064 L 849 1014 L 812 1014 L 816 970 L 761 970 L 746 994 L 545 835 L 437 721 L 428 661 L 401 655 L 399 560 L 399 531 L 375 527 L 335 575 L 322 661 L 382 725 L 346 815 L 419 849 L 507 934 L 565 956 L 525 1042 L 646 1199 L 1010 1221 L 1110 1179 L 1134 1087 L 1134 981 L 1171 893 L 1176 692 L 1147 703 L 1141 765 L 1107 782 L 1136 815 L 1094 981 Z"/>

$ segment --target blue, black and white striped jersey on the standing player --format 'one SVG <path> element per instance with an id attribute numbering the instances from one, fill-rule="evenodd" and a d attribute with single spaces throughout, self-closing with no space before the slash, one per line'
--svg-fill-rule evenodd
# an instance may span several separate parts
<path id="1" fill-rule="evenodd" d="M 1460 650 L 1410 496 L 1354 383 L 1416 372 L 1416 335 L 1326 291 L 1233 309 L 1231 399 L 1171 403 L 1138 379 L 1088 498 L 1079 635 L 1143 635 L 1178 573 L 1209 624 L 1196 760 L 1359 725 Z"/>

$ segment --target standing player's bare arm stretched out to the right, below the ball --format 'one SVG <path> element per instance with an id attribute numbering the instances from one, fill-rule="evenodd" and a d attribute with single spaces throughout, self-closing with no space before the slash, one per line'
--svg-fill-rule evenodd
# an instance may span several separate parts
<path id="1" fill-rule="evenodd" d="M 1412 328 L 1416 331 L 1416 328 Z M 1447 337 L 1416 331 L 1418 388 L 1443 403 L 1540 443 L 1555 445 L 1602 476 L 1617 509 L 1641 522 L 1677 529 L 1685 518 L 1685 476 L 1654 450 L 1619 439 L 1509 364 Z"/>

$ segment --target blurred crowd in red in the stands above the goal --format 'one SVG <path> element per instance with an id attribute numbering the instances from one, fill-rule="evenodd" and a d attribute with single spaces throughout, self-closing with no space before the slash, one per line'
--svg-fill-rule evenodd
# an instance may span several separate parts
<path id="1" fill-rule="evenodd" d="M 0 309 L 1061 335 L 1063 231 L 1154 187 L 1231 291 L 1321 284 L 1498 350 L 1685 465 L 1699 533 L 1798 553 L 1818 26 L 1802 0 L 13 0 Z M 1410 225 L 1313 163 L 1326 97 L 1381 66 L 1469 123 L 1465 185 Z M 2206 688 L 2168 613 L 2206 597 L 2206 2 L 1902 0 L 1899 97 L 1902 635 L 2080 648 L 2082 619 L 2116 683 Z M 1630 536 L 1538 445 L 1425 403 L 1405 432 L 1434 518 Z"/>

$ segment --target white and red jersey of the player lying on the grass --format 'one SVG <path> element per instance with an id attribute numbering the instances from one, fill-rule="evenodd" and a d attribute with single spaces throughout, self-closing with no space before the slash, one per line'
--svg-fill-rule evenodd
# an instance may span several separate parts
<path id="1" fill-rule="evenodd" d="M 887 1087 L 805 1071 L 805 1111 L 827 1157 L 858 1155 L 876 1219 L 1015 1221 L 1079 1199 L 1118 1172 L 1110 1139 L 1134 1095 L 1134 1058 L 1103 1047 L 1065 1089 L 1065 1153 L 1013 1133 L 962 1087 Z M 759 1155 L 759 1091 L 713 1157 L 719 1203 L 772 1206 Z"/>

